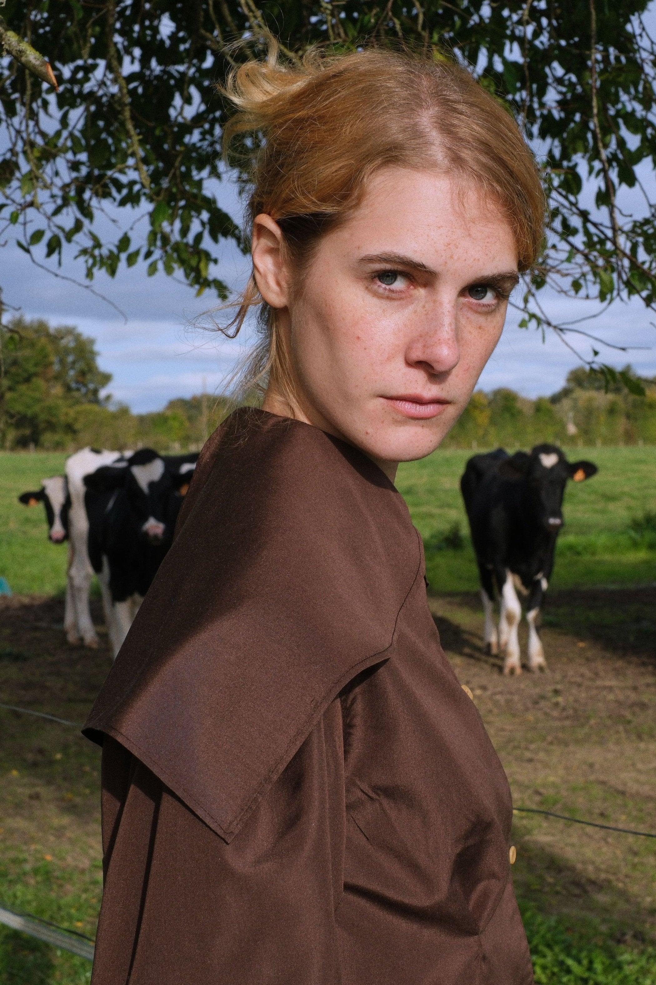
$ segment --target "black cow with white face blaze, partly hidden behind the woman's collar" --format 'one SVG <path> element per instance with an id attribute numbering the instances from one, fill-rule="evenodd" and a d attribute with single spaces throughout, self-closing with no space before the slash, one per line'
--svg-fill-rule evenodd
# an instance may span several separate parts
<path id="1" fill-rule="evenodd" d="M 142 448 L 85 478 L 89 557 L 110 596 L 114 656 L 171 545 L 197 458 Z"/>

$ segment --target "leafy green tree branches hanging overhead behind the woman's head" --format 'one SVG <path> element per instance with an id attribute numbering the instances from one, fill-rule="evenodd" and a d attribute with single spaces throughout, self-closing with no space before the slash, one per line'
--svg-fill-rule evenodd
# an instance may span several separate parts
<path id="1" fill-rule="evenodd" d="M 656 214 L 639 176 L 641 166 L 653 169 L 656 151 L 646 7 L 647 0 L 7 0 L 0 39 L 11 29 L 47 56 L 60 89 L 10 54 L 0 64 L 0 236 L 15 233 L 37 263 L 60 261 L 69 244 L 90 280 L 98 270 L 113 276 L 120 263 L 145 262 L 151 275 L 162 268 L 225 297 L 216 244 L 222 237 L 244 244 L 217 199 L 226 107 L 216 82 L 235 60 L 261 53 L 267 33 L 281 37 L 293 60 L 316 42 L 344 49 L 403 39 L 469 64 L 539 155 L 550 237 L 526 282 L 523 323 L 552 324 L 540 301 L 547 284 L 602 302 L 637 295 L 653 307 Z M 248 51 L 230 46 L 244 36 Z M 5 48 L 12 50 L 6 39 Z M 626 189 L 641 197 L 637 212 L 623 210 Z"/>

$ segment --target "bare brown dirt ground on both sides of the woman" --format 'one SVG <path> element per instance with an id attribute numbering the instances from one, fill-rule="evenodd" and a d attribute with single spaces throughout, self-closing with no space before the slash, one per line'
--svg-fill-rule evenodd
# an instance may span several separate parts
<path id="1" fill-rule="evenodd" d="M 429 602 L 515 805 L 656 831 L 656 589 L 554 594 L 542 629 L 548 671 L 510 679 L 484 652 L 478 596 Z M 101 624 L 98 606 L 94 617 Z M 104 642 L 70 647 L 62 622 L 60 599 L 0 601 L 0 702 L 83 722 L 111 658 Z M 0 732 L 0 862 L 19 852 L 26 872 L 51 866 L 61 874 L 53 893 L 73 895 L 79 879 L 92 932 L 98 750 L 76 729 L 4 709 Z M 594 917 L 617 941 L 656 939 L 656 839 L 526 814 L 515 815 L 514 837 L 521 898 L 572 923 Z"/>

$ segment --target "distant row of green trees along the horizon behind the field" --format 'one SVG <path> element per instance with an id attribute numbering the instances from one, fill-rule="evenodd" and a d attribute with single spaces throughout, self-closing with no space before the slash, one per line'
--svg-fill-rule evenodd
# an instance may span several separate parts
<path id="1" fill-rule="evenodd" d="M 230 407 L 227 398 L 204 394 L 171 400 L 157 413 L 132 414 L 99 396 L 111 377 L 97 359 L 94 340 L 72 327 L 16 318 L 0 328 L 0 447 L 195 450 Z M 630 366 L 626 376 L 639 378 Z M 444 446 L 656 444 L 656 377 L 640 381 L 644 396 L 630 393 L 620 377 L 608 386 L 580 367 L 551 397 L 477 391 Z"/>

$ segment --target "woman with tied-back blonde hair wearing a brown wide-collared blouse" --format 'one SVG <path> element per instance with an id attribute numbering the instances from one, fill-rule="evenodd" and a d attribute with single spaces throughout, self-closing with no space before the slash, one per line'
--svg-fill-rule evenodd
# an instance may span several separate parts
<path id="1" fill-rule="evenodd" d="M 94 985 L 528 985 L 511 801 L 393 481 L 535 260 L 543 198 L 464 70 L 366 51 L 230 80 L 264 143 L 247 382 L 86 726 Z"/>

